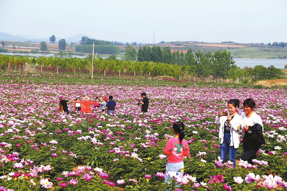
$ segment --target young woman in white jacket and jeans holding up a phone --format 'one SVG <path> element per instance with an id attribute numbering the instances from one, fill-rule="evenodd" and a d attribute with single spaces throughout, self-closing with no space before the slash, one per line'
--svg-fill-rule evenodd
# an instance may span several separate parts
<path id="1" fill-rule="evenodd" d="M 239 107 L 238 99 L 231 99 L 227 103 L 227 116 L 224 116 L 222 111 L 218 112 L 215 118 L 215 124 L 219 128 L 219 142 L 220 142 L 220 158 L 222 163 L 227 160 L 227 152 L 229 160 L 235 167 L 235 155 L 239 147 L 238 132 L 242 123 L 242 117 L 236 112 Z"/>

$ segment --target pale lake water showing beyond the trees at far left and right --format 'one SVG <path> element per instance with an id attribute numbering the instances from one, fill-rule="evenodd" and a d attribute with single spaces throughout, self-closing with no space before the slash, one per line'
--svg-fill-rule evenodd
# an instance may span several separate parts
<path id="1" fill-rule="evenodd" d="M 0 54 L 6 54 L 6 55 L 21 55 L 26 56 L 27 54 L 21 54 L 21 53 L 0 53 Z M 53 56 L 53 54 L 28 54 L 28 56 Z M 73 57 L 76 58 L 86 58 L 86 56 L 79 56 L 79 55 L 73 55 Z M 106 56 L 102 56 L 102 58 L 108 58 Z M 117 59 L 120 59 L 120 57 L 117 57 Z M 256 65 L 262 65 L 265 67 L 269 67 L 270 65 L 273 65 L 275 68 L 284 69 L 284 66 L 287 64 L 287 59 L 247 59 L 247 58 L 233 58 L 235 61 L 236 66 L 244 68 L 247 67 L 255 67 Z"/>

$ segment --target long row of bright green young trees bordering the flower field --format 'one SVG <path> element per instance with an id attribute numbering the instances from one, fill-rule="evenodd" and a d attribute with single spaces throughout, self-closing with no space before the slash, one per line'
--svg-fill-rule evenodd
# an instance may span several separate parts
<path id="1" fill-rule="evenodd" d="M 213 77 L 213 79 L 233 79 L 234 81 L 238 77 L 243 76 L 255 76 L 256 79 L 271 79 L 284 75 L 281 69 L 276 69 L 274 66 L 264 67 L 262 65 L 257 65 L 254 68 L 245 67 L 245 69 L 238 68 L 234 61 L 231 59 L 229 62 L 226 60 L 228 57 L 226 51 L 218 51 L 214 55 L 210 52 L 205 54 L 201 53 L 200 57 L 195 56 L 197 63 L 195 65 L 175 65 L 167 63 L 154 63 L 148 61 L 125 61 L 120 59 L 94 59 L 94 71 L 95 73 L 103 73 L 103 70 L 108 72 L 119 72 L 128 73 L 133 75 L 134 72 L 137 75 L 169 75 L 174 78 L 181 79 L 183 76 L 190 75 L 191 77 L 199 77 L 205 79 L 207 77 Z M 19 69 L 24 69 L 26 63 L 32 66 L 43 66 L 43 67 L 59 67 L 62 70 L 64 69 L 77 69 L 79 71 L 91 69 L 92 64 L 92 55 L 86 57 L 85 59 L 72 58 L 67 54 L 66 56 L 70 57 L 14 57 L 8 55 L 0 54 L 0 66 L 1 69 L 8 69 L 8 64 L 10 69 L 18 66 Z M 26 65 L 27 66 L 27 65 Z"/>

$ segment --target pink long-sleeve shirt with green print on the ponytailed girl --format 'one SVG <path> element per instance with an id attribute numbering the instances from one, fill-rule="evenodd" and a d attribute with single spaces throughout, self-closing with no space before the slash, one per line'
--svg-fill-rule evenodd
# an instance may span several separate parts
<path id="1" fill-rule="evenodd" d="M 168 154 L 169 163 L 179 163 L 183 161 L 183 156 L 189 156 L 189 147 L 185 139 L 179 143 L 179 138 L 170 138 L 164 148 L 164 154 Z"/>

